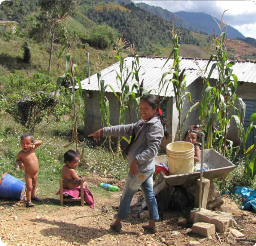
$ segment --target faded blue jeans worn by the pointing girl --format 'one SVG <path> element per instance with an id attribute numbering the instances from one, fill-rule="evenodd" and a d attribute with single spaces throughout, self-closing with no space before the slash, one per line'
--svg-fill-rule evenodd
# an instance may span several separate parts
<path id="1" fill-rule="evenodd" d="M 149 209 L 149 219 L 159 219 L 158 207 L 153 193 L 154 172 L 155 168 L 149 172 L 138 172 L 136 176 L 132 176 L 128 173 L 118 209 L 118 218 L 126 219 L 128 217 L 132 197 L 135 195 L 138 188 L 141 187 Z"/>

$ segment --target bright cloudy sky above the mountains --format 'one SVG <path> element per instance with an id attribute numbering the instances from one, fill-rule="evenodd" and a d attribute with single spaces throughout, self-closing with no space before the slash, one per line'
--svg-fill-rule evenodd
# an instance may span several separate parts
<path id="1" fill-rule="evenodd" d="M 147 3 L 159 6 L 171 12 L 188 11 L 204 12 L 223 20 L 232 27 L 236 28 L 246 37 L 256 39 L 256 4 L 254 1 L 135 1 L 134 3 Z"/>

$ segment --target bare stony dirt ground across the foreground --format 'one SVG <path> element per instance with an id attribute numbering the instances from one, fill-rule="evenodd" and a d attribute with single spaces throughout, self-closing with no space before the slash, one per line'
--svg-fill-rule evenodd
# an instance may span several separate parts
<path id="1" fill-rule="evenodd" d="M 98 185 L 99 182 L 117 184 L 124 188 L 124 181 L 104 179 L 97 175 L 88 179 L 90 185 Z M 121 189 L 122 190 L 122 189 Z M 79 206 L 79 204 L 67 204 L 64 206 L 48 205 L 48 200 L 36 203 L 33 208 L 26 208 L 24 202 L 0 203 L 0 237 L 4 245 L 102 245 L 102 246 L 164 246 L 164 245 L 189 245 L 189 241 L 197 241 L 199 245 L 255 245 L 251 242 L 237 242 L 231 233 L 218 233 L 205 238 L 198 234 L 191 234 L 188 228 L 192 228 L 189 221 L 189 212 L 165 212 L 160 213 L 157 222 L 159 231 L 150 234 L 143 231 L 141 226 L 147 223 L 147 219 L 138 217 L 136 207 L 132 207 L 130 217 L 123 222 L 121 233 L 115 233 L 109 228 L 114 221 L 116 207 L 119 205 L 120 194 L 112 192 L 109 198 L 99 194 L 94 195 L 95 208 Z M 135 199 L 140 195 L 137 194 Z M 256 239 L 256 214 L 242 211 L 228 198 L 224 198 L 222 205 L 224 212 L 230 213 L 238 223 L 238 230 L 248 239 Z M 57 207 L 58 206 L 58 207 Z M 104 206 L 106 213 L 103 213 Z M 57 208 L 56 208 L 57 207 Z M 188 220 L 185 226 L 177 225 L 177 219 L 183 216 Z M 173 231 L 179 235 L 173 236 Z"/>

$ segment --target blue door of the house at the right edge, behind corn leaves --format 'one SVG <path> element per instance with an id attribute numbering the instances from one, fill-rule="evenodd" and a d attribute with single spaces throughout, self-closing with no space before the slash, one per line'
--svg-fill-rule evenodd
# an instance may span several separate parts
<path id="1" fill-rule="evenodd" d="M 246 130 L 249 126 L 251 115 L 253 113 L 256 113 L 256 101 L 244 100 L 244 103 L 246 104 L 246 116 L 244 118 L 244 132 L 246 132 Z M 253 144 L 254 136 L 256 136 L 256 129 L 254 129 L 250 132 L 250 135 L 246 142 L 246 149 L 249 148 Z"/>

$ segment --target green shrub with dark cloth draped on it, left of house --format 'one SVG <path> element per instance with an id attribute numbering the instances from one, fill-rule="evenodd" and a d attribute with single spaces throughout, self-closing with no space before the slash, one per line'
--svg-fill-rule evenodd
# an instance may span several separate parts
<path id="1" fill-rule="evenodd" d="M 67 108 L 54 99 L 51 77 L 40 73 L 34 74 L 32 81 L 18 74 L 10 77 L 3 108 L 31 133 L 34 133 L 36 126 L 43 120 L 47 126 L 66 113 Z"/>

